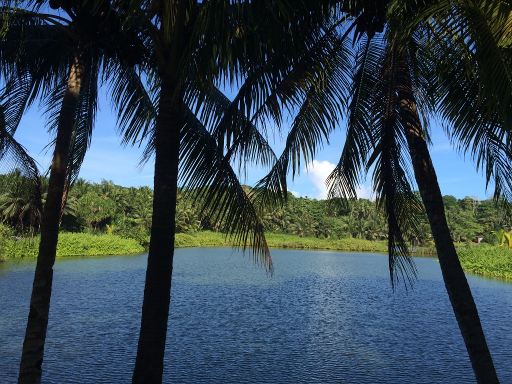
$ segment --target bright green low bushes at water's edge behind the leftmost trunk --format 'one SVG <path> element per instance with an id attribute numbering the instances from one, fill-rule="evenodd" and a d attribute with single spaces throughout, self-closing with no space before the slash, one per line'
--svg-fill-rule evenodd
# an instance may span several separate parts
<path id="1" fill-rule="evenodd" d="M 38 239 L 8 241 L 8 257 L 36 257 Z M 60 233 L 57 257 L 95 256 L 103 254 L 129 254 L 143 252 L 144 248 L 134 239 L 122 239 L 113 234 Z"/>

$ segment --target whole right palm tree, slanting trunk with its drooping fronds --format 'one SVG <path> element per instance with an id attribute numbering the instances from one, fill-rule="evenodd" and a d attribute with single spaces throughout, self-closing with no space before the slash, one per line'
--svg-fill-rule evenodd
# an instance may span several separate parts
<path id="1" fill-rule="evenodd" d="M 410 9 L 408 10 L 409 13 L 407 11 L 394 13 L 395 17 L 390 14 L 385 39 L 379 41 L 376 38 L 367 38 L 361 45 L 357 57 L 358 68 L 355 71 L 352 92 L 354 96 L 350 104 L 348 138 L 342 158 L 329 181 L 333 183 L 331 196 L 354 196 L 354 186 L 357 185 L 358 181 L 358 173 L 354 172 L 354 169 L 366 168 L 368 170 L 372 163 L 375 164 L 374 186 L 379 196 L 379 206 L 385 209 L 389 224 L 392 280 L 399 280 L 400 276 L 404 280 L 410 280 L 410 276 L 414 276 L 416 271 L 409 259 L 402 233 L 407 232 L 408 229 L 418 232 L 421 206 L 415 201 L 408 180 L 407 165 L 404 165 L 401 148 L 406 147 L 408 149 L 414 176 L 436 243 L 446 290 L 464 338 L 477 382 L 498 382 L 477 308 L 457 258 L 450 236 L 450 229 L 446 224 L 442 196 L 426 143 L 428 136 L 426 136 L 423 126 L 426 124 L 428 111 L 435 110 L 438 103 L 441 103 L 443 108 L 447 109 L 448 112 L 445 112 L 445 114 L 449 116 L 453 116 L 455 111 L 460 113 L 461 108 L 464 107 L 465 113 L 470 111 L 467 115 L 464 115 L 467 121 L 480 120 L 479 118 L 475 119 L 474 115 L 471 116 L 471 113 L 475 111 L 475 106 L 471 103 L 474 102 L 476 97 L 468 97 L 467 88 L 462 88 L 466 92 L 463 95 L 453 92 L 453 78 L 466 85 L 474 85 L 475 79 L 467 79 L 467 72 L 463 75 L 459 73 L 458 76 L 453 76 L 454 70 L 452 67 L 448 67 L 449 70 L 441 68 L 443 71 L 440 72 L 440 67 L 444 66 L 445 62 L 439 58 L 446 57 L 446 52 L 450 51 L 451 48 L 450 52 L 453 52 L 453 56 L 450 57 L 450 60 L 453 60 L 452 65 L 456 67 L 456 70 L 459 70 L 462 65 L 466 66 L 463 68 L 467 68 L 466 58 L 471 56 L 475 60 L 477 68 L 480 69 L 480 71 L 477 69 L 477 73 L 484 72 L 483 68 L 487 67 L 484 67 L 483 63 L 488 60 L 488 57 L 480 57 L 480 51 L 488 51 L 488 47 L 482 48 L 482 40 L 476 39 L 471 34 L 455 39 L 456 43 L 460 45 L 459 47 L 451 46 L 452 36 L 456 34 L 455 32 L 452 34 L 453 30 L 448 27 L 457 26 L 454 18 L 457 20 L 463 19 L 464 23 L 472 25 L 480 23 L 478 24 L 480 31 L 483 31 L 485 35 L 488 32 L 486 28 L 492 29 L 489 27 L 492 24 L 490 22 L 486 24 L 488 19 L 482 22 L 482 20 L 476 20 L 475 17 L 478 18 L 479 14 L 496 17 L 499 13 L 496 13 L 496 9 L 492 7 L 490 7 L 492 9 L 485 8 L 489 4 L 477 6 L 474 3 L 464 3 L 457 4 L 453 8 L 451 5 L 445 5 L 444 3 L 442 5 L 444 8 L 441 7 L 441 4 L 435 4 L 434 6 L 437 8 L 434 8 L 434 11 L 432 8 L 428 8 L 426 13 L 421 13 L 419 11 L 423 10 L 418 9 L 417 13 L 429 15 L 427 17 L 428 23 L 418 24 L 418 21 L 415 20 L 415 23 L 412 23 L 412 29 L 409 29 L 406 24 L 408 16 L 411 15 Z M 504 4 L 501 6 L 507 8 Z M 400 7 L 397 8 L 400 9 Z M 458 16 L 455 16 L 455 14 Z M 430 17 L 431 15 L 434 16 Z M 489 18 L 492 19 L 492 17 Z M 446 20 L 449 20 L 449 22 L 446 22 Z M 446 23 L 449 25 L 447 26 Z M 439 29 L 444 31 L 444 36 L 450 37 L 443 38 Z M 463 29 L 456 29 L 457 33 L 461 30 Z M 435 38 L 431 39 L 429 36 Z M 489 33 L 487 33 L 485 38 L 487 44 L 496 47 L 495 36 L 490 34 L 489 37 Z M 471 48 L 466 48 L 463 55 L 456 57 L 460 53 L 461 47 L 467 47 L 467 45 L 470 45 Z M 473 54 L 473 51 L 477 53 Z M 502 69 L 500 60 L 498 58 L 498 64 L 496 65 L 499 70 Z M 502 73 L 503 71 L 499 72 L 499 76 Z M 488 76 L 482 75 L 481 79 L 485 78 L 492 82 Z M 445 97 L 446 93 L 443 94 L 446 83 L 452 85 L 452 93 L 449 97 Z M 432 87 L 433 84 L 443 84 L 443 86 L 435 89 L 435 87 Z M 509 84 L 510 78 L 507 77 L 505 84 L 499 86 L 497 93 L 503 94 L 503 89 L 510 89 Z M 460 83 L 458 86 L 460 87 Z M 488 83 L 484 91 L 480 89 L 483 100 L 485 100 L 484 103 L 487 103 L 487 108 L 494 111 L 492 115 L 495 119 L 497 115 L 505 119 L 506 114 L 502 111 L 503 106 L 492 103 L 492 99 L 496 95 L 486 95 L 493 88 Z M 456 95 L 454 96 L 453 93 Z M 471 102 L 465 102 L 464 105 L 462 100 L 466 99 L 471 100 Z M 508 105 L 506 95 L 504 100 L 505 105 Z M 423 123 L 420 119 L 420 112 L 425 117 Z M 478 153 L 475 156 L 478 156 L 482 163 L 488 162 L 490 166 L 487 174 L 488 178 L 493 174 L 492 167 L 495 166 L 497 185 L 503 187 L 504 183 L 500 176 L 503 175 L 504 164 L 510 161 L 510 154 L 504 145 L 496 144 L 496 140 L 494 141 L 494 147 L 487 145 L 493 143 L 493 141 L 482 144 L 486 135 L 488 137 L 488 132 L 492 132 L 492 129 L 488 130 L 488 127 L 493 125 L 493 121 L 492 119 L 485 120 L 485 113 L 480 115 L 484 117 L 484 122 L 481 124 L 487 124 L 487 130 L 482 129 L 481 133 L 476 133 L 476 130 L 471 131 L 471 128 L 475 125 L 478 126 L 478 124 L 473 123 L 472 125 L 465 125 L 467 127 L 465 132 L 466 135 L 473 135 L 476 141 L 473 146 L 474 150 L 479 149 L 478 145 L 486 148 L 486 152 Z M 458 121 L 465 122 L 464 118 Z M 496 125 L 499 126 L 499 124 Z M 463 131 L 463 128 L 457 127 L 454 136 Z M 475 138 L 477 134 L 479 137 Z M 465 147 L 465 142 L 471 142 L 471 140 L 473 139 L 464 136 L 461 146 Z M 509 185 L 508 190 L 510 190 Z M 397 264 L 395 257 L 398 255 L 404 258 Z M 395 275 L 393 275 L 393 272 L 395 272 Z"/>

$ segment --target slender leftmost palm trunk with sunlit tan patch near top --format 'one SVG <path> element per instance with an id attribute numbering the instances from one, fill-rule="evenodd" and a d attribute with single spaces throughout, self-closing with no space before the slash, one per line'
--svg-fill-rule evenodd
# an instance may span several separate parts
<path id="1" fill-rule="evenodd" d="M 53 153 L 48 194 L 42 215 L 41 240 L 35 267 L 30 312 L 23 342 L 22 359 L 19 365 L 18 383 L 40 383 L 41 365 L 45 349 L 50 297 L 52 294 L 53 264 L 57 251 L 60 210 L 69 162 L 71 135 L 75 123 L 78 96 L 84 83 L 87 69 L 85 52 L 76 49 L 71 63 L 66 92 L 57 126 L 57 137 Z"/>

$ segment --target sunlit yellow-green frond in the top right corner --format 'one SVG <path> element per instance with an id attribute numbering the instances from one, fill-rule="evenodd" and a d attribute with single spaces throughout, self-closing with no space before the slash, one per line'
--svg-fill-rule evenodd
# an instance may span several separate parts
<path id="1" fill-rule="evenodd" d="M 462 62 L 466 76 L 476 82 L 479 101 L 486 100 L 488 112 L 498 113 L 510 124 L 512 112 L 512 72 L 508 47 L 512 39 L 511 7 L 507 2 L 443 3 L 433 13 L 432 23 L 450 40 L 456 55 L 446 60 Z M 433 5 L 432 7 L 435 6 Z M 457 62 L 455 62 L 457 65 Z"/>

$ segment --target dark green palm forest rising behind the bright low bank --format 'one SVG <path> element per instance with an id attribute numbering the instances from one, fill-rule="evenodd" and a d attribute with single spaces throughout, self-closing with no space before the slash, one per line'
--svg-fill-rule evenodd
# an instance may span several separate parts
<path id="1" fill-rule="evenodd" d="M 19 170 L 0 175 L 4 186 L 0 194 L 0 221 L 14 230 L 15 236 L 27 236 L 37 231 L 40 222 L 31 222 L 24 200 L 24 176 Z M 44 206 L 48 178 L 41 177 L 41 203 Z M 250 190 L 250 187 L 246 187 Z M 420 197 L 418 196 L 420 200 Z M 443 196 L 445 215 L 452 240 L 456 243 L 474 242 L 477 236 L 486 243 L 496 243 L 497 233 L 507 233 L 511 226 L 493 199 L 480 201 L 466 196 L 457 199 Z M 220 211 L 204 209 L 204 202 L 194 199 L 187 188 L 180 188 L 177 197 L 175 225 L 177 233 L 198 230 L 227 232 L 229 223 Z M 78 178 L 72 185 L 60 223 L 61 231 L 108 232 L 138 240 L 147 247 L 153 217 L 153 189 L 148 186 L 123 187 L 112 181 L 92 183 Z M 287 195 L 286 203 L 275 210 L 264 211 L 262 225 L 266 233 L 284 233 L 318 239 L 386 240 L 388 227 L 378 203 L 357 199 L 347 208 L 336 209 L 328 200 L 308 199 Z M 413 247 L 432 247 L 432 232 L 426 215 L 419 231 L 404 233 Z M 501 244 L 501 242 L 500 242 Z"/>

